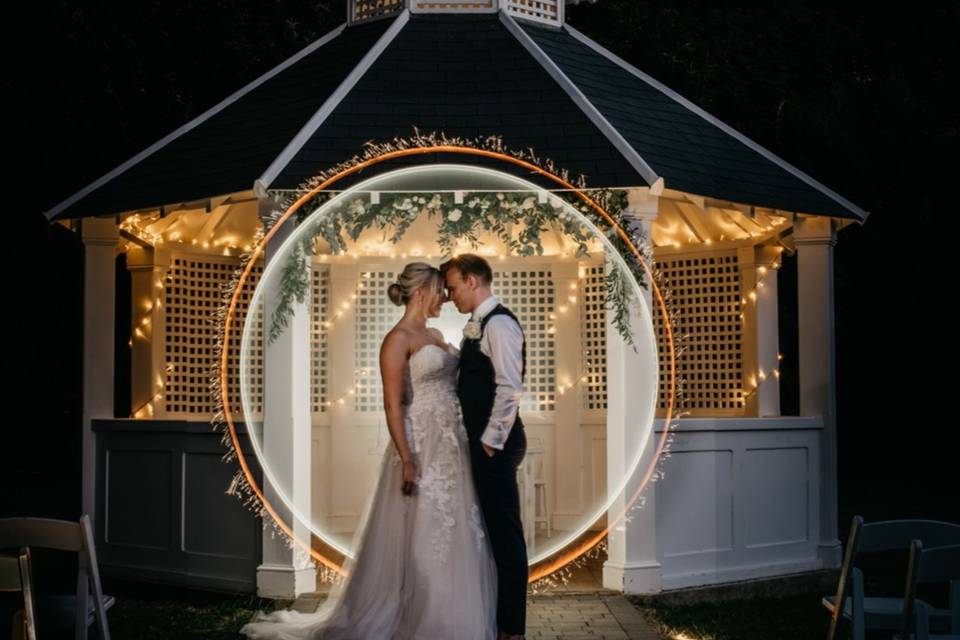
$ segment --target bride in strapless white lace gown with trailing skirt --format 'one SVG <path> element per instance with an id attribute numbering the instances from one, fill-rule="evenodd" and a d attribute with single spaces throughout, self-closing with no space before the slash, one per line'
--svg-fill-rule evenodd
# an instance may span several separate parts
<path id="1" fill-rule="evenodd" d="M 347 576 L 312 614 L 258 614 L 240 633 L 270 640 L 489 640 L 497 569 L 470 471 L 456 392 L 459 352 L 428 317 L 440 271 L 408 264 L 390 285 L 406 310 L 380 348 L 387 443 Z"/>

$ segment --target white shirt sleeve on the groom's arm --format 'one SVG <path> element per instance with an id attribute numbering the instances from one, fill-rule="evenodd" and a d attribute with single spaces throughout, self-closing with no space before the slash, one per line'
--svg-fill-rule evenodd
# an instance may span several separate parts
<path id="1" fill-rule="evenodd" d="M 502 450 L 517 419 L 520 399 L 523 397 L 523 330 L 509 316 L 490 318 L 483 332 L 480 349 L 493 364 L 497 385 L 493 411 L 480 442 Z"/>

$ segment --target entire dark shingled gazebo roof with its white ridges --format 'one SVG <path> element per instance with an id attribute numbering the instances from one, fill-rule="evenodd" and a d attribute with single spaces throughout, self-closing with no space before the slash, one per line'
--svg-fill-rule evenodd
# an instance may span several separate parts
<path id="1" fill-rule="evenodd" d="M 158 208 L 254 185 L 294 189 L 361 151 L 364 142 L 407 137 L 416 127 L 464 138 L 500 136 L 509 148 L 531 148 L 584 174 L 590 187 L 667 187 L 866 220 L 861 208 L 575 29 L 521 23 L 511 13 L 405 9 L 342 25 L 47 217 Z M 449 155 L 405 162 L 451 161 L 478 164 L 475 157 Z"/>

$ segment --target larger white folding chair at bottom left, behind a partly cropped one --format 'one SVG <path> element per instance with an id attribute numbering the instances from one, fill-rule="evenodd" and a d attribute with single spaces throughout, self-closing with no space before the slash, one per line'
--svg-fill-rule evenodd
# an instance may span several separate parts
<path id="1" fill-rule="evenodd" d="M 96 621 L 101 640 L 109 640 L 107 609 L 113 606 L 115 600 L 112 596 L 104 596 L 100 589 L 100 572 L 97 569 L 97 553 L 93 545 L 90 517 L 83 515 L 79 522 L 49 518 L 0 519 L 0 549 L 22 546 L 72 551 L 78 554 L 77 595 L 39 598 L 37 611 L 44 618 L 41 626 L 55 629 L 66 621 L 69 627 L 72 620 L 77 640 L 86 640 L 87 627 Z"/>

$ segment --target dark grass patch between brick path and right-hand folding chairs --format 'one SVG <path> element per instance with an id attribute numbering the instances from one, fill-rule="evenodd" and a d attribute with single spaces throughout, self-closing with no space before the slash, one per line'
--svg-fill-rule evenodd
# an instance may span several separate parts
<path id="1" fill-rule="evenodd" d="M 638 605 L 667 640 L 816 640 L 829 619 L 819 595 L 687 606 Z"/>

